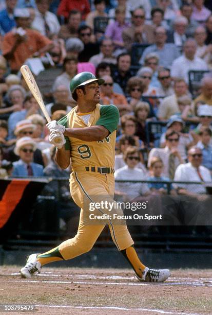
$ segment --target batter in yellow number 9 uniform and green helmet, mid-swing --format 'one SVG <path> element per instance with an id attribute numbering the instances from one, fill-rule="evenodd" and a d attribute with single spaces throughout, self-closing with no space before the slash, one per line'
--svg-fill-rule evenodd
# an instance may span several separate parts
<path id="1" fill-rule="evenodd" d="M 115 246 L 140 281 L 163 282 L 170 275 L 168 269 L 149 269 L 140 261 L 125 221 L 117 222 L 111 215 L 123 214 L 121 208 L 108 211 L 105 205 L 94 207 L 92 215 L 105 216 L 105 220 L 94 223 L 90 218 L 89 204 L 102 199 L 114 203 L 114 147 L 119 110 L 113 105 L 99 104 L 99 85 L 102 83 L 103 79 L 97 79 L 89 72 L 76 75 L 70 82 L 70 90 L 78 105 L 58 123 L 53 120 L 47 124 L 50 143 L 57 147 L 56 162 L 66 169 L 71 160 L 70 191 L 74 202 L 81 207 L 80 222 L 73 238 L 44 254 L 30 255 L 21 269 L 24 278 L 40 273 L 48 263 L 90 251 L 105 224 L 109 226 Z"/>

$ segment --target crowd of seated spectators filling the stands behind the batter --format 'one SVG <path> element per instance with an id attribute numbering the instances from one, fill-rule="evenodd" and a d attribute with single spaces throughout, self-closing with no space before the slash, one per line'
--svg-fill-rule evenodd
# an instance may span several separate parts
<path id="1" fill-rule="evenodd" d="M 44 69 L 61 70 L 43 95 L 52 119 L 76 106 L 74 75 L 105 80 L 100 103 L 120 111 L 115 179 L 158 182 L 119 183 L 117 194 L 206 194 L 203 185 L 167 189 L 164 182 L 212 180 L 210 1 L 5 0 L 0 9 L 1 178 L 49 176 L 56 168 L 64 174 L 20 74 L 38 59 Z M 195 92 L 189 71 L 202 72 Z"/>

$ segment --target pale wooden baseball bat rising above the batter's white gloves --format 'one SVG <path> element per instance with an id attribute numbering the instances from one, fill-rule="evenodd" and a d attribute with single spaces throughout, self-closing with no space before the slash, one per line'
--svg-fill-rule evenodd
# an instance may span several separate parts
<path id="1" fill-rule="evenodd" d="M 42 112 L 44 113 L 46 120 L 48 122 L 50 122 L 51 118 L 50 118 L 50 116 L 46 110 L 44 101 L 43 101 L 42 96 L 41 96 L 41 92 L 37 86 L 37 83 L 36 83 L 32 73 L 31 73 L 30 68 L 24 64 L 23 66 L 21 66 L 21 73 L 22 73 L 22 75 L 23 75 L 23 77 L 24 77 L 24 79 L 28 85 L 29 90 L 32 92 L 32 95 L 34 96 L 34 98 L 38 102 Z"/>

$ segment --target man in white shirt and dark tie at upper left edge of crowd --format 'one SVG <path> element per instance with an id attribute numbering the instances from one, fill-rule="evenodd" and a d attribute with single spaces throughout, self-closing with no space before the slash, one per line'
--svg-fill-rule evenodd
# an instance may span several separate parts
<path id="1" fill-rule="evenodd" d="M 57 35 L 60 31 L 60 23 L 54 13 L 48 11 L 48 0 L 36 0 L 37 9 L 32 22 L 32 28 L 40 32 L 42 35 L 50 37 L 52 34 Z"/>

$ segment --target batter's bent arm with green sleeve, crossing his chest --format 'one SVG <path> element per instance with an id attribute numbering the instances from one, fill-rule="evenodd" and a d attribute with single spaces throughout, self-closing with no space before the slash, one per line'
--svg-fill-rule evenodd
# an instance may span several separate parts
<path id="1" fill-rule="evenodd" d="M 117 129 L 119 110 L 113 105 L 103 105 L 100 108 L 100 118 L 95 126 L 66 129 L 65 136 L 78 138 L 83 141 L 100 141 Z"/>

